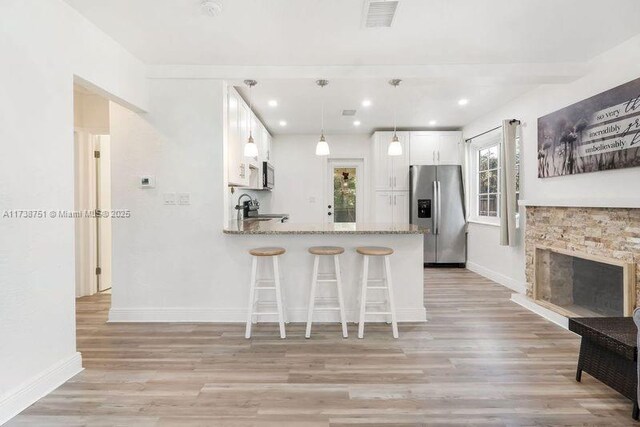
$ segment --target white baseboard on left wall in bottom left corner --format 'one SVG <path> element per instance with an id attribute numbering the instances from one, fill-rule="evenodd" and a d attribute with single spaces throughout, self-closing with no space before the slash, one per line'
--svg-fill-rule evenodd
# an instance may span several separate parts
<path id="1" fill-rule="evenodd" d="M 0 425 L 51 393 L 80 371 L 82 371 L 82 355 L 75 353 L 1 396 Z"/>

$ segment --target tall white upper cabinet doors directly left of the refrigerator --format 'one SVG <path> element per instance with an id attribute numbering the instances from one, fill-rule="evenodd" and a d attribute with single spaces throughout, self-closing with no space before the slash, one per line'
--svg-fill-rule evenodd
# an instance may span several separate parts
<path id="1" fill-rule="evenodd" d="M 401 156 L 387 154 L 393 132 L 373 134 L 373 181 L 376 190 L 406 191 L 409 189 L 409 132 L 397 134 L 402 144 Z"/>

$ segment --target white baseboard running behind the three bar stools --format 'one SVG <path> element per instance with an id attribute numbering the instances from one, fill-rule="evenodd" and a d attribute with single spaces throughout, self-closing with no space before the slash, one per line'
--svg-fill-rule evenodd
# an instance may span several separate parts
<path id="1" fill-rule="evenodd" d="M 355 310 L 346 311 L 347 320 L 354 322 L 358 319 Z M 307 309 L 295 308 L 287 310 L 289 321 L 306 322 Z M 337 313 L 314 313 L 314 321 L 337 321 Z M 398 322 L 425 322 L 427 312 L 424 307 L 397 309 Z M 261 321 L 275 322 L 276 316 L 260 316 Z M 368 321 L 384 321 L 383 316 L 367 316 Z M 222 308 L 112 308 L 109 310 L 109 322 L 215 322 L 242 323 L 247 321 L 247 309 Z"/>

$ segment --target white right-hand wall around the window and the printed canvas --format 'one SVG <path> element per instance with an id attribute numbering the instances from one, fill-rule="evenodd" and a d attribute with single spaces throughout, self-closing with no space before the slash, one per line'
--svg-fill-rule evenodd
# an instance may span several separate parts
<path id="1" fill-rule="evenodd" d="M 521 198 L 537 203 L 572 203 L 589 206 L 627 205 L 640 207 L 640 168 L 628 168 L 555 178 L 538 178 L 537 120 L 539 117 L 581 101 L 617 85 L 640 77 L 640 36 L 605 52 L 591 61 L 592 71 L 565 85 L 543 85 L 463 129 L 470 138 L 500 125 L 502 119 L 522 121 Z M 624 183 L 629 183 L 625 185 Z M 524 218 L 521 218 L 524 224 Z M 519 229 L 518 244 L 499 246 L 497 227 L 469 225 L 469 267 L 517 290 L 524 289 L 524 227 Z"/>

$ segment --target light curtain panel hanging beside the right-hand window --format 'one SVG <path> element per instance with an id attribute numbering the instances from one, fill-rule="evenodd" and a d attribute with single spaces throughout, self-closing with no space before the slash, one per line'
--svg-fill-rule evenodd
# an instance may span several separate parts
<path id="1" fill-rule="evenodd" d="M 513 246 L 516 239 L 516 132 L 520 122 L 502 121 L 500 146 L 500 245 Z"/>

